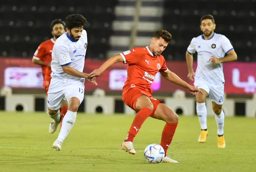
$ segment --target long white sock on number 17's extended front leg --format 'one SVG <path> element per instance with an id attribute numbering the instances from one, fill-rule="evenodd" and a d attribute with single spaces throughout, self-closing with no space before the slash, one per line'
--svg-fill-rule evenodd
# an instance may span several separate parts
<path id="1" fill-rule="evenodd" d="M 63 142 L 68 133 L 70 132 L 71 128 L 73 127 L 77 118 L 77 112 L 72 112 L 70 110 L 67 111 L 66 115 L 62 120 L 61 130 L 57 140 Z"/>

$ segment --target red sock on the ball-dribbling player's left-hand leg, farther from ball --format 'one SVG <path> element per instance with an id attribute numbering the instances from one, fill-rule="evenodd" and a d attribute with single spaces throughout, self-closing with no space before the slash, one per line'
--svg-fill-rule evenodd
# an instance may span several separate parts
<path id="1" fill-rule="evenodd" d="M 128 132 L 128 135 L 126 139 L 124 140 L 125 142 L 132 142 L 136 134 L 138 133 L 139 129 L 141 128 L 143 122 L 147 119 L 147 117 L 150 116 L 152 113 L 151 109 L 149 108 L 141 108 L 141 110 L 136 114 L 132 126 Z"/>

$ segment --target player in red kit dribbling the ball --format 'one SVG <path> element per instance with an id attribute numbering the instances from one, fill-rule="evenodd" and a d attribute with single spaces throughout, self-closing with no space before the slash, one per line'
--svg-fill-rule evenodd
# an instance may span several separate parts
<path id="1" fill-rule="evenodd" d="M 166 156 L 167 149 L 172 142 L 178 124 L 178 115 L 162 101 L 152 98 L 150 86 L 157 72 L 160 72 L 165 79 L 187 88 L 193 95 L 197 95 L 199 91 L 202 93 L 202 91 L 197 87 L 189 85 L 175 73 L 168 70 L 161 53 L 165 50 L 171 39 L 172 35 L 168 31 L 159 29 L 155 31 L 149 46 L 135 47 L 115 55 L 104 62 L 100 68 L 93 70 L 89 76 L 99 76 L 116 62 L 128 63 L 127 79 L 123 86 L 122 99 L 127 106 L 138 113 L 120 148 L 135 154 L 136 151 L 132 142 L 138 130 L 148 117 L 156 118 L 166 122 L 160 143 L 165 150 L 165 157 L 162 162 L 178 163 L 176 160 Z"/>

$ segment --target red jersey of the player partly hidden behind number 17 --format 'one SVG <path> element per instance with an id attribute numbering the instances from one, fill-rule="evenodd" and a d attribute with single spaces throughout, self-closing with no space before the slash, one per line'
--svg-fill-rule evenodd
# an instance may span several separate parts
<path id="1" fill-rule="evenodd" d="M 34 53 L 33 58 L 37 60 L 42 60 L 46 62 L 51 61 L 51 53 L 52 53 L 52 48 L 54 45 L 55 41 L 51 38 L 45 42 L 42 42 L 36 52 Z M 44 87 L 49 87 L 50 85 L 50 80 L 51 80 L 51 67 L 49 66 L 42 66 L 42 74 L 44 77 Z"/>

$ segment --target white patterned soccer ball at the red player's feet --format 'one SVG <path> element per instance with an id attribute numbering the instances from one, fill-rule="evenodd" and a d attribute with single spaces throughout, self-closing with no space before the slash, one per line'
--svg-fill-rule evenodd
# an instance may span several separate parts
<path id="1" fill-rule="evenodd" d="M 148 163 L 160 163 L 164 155 L 164 148 L 155 143 L 148 145 L 144 151 L 144 157 Z"/>

